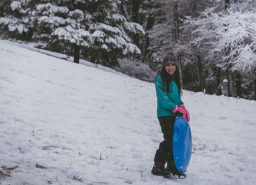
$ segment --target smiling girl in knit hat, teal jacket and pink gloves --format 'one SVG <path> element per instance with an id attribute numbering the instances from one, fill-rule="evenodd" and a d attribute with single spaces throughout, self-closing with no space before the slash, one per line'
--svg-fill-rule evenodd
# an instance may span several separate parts
<path id="1" fill-rule="evenodd" d="M 162 69 L 155 80 L 157 91 L 157 118 L 164 140 L 154 156 L 154 175 L 183 175 L 178 173 L 173 159 L 173 124 L 178 113 L 189 121 L 189 112 L 181 101 L 181 78 L 178 60 L 173 53 L 167 53 L 162 60 Z M 165 168 L 165 163 L 167 167 Z"/>

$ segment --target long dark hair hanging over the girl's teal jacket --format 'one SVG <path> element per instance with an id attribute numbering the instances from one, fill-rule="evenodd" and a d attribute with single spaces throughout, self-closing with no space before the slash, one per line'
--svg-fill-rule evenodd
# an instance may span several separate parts
<path id="1" fill-rule="evenodd" d="M 162 67 L 162 69 L 160 71 L 160 75 L 162 78 L 162 86 L 164 86 L 164 88 L 166 88 L 167 93 L 169 93 L 170 91 L 173 90 L 173 85 L 172 85 L 171 81 L 173 80 L 173 75 L 174 75 L 174 80 L 178 86 L 178 93 L 181 94 L 182 83 L 181 83 L 180 72 L 179 72 L 179 69 L 177 66 L 176 66 L 176 70 L 173 75 L 170 75 L 166 72 L 165 66 Z M 171 89 L 170 89 L 170 86 L 172 86 Z"/>

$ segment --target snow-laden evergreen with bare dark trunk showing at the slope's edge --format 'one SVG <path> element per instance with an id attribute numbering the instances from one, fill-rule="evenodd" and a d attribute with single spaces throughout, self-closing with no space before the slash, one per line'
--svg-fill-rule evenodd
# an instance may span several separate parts
<path id="1" fill-rule="evenodd" d="M 34 39 L 48 43 L 49 48 L 62 48 L 69 46 L 74 50 L 74 61 L 79 63 L 79 50 L 86 46 L 89 31 L 83 25 L 84 15 L 82 10 L 69 10 L 67 7 L 47 4 L 37 4 L 34 16 Z M 58 50 L 59 51 L 59 50 Z M 69 52 L 71 53 L 71 52 Z"/>

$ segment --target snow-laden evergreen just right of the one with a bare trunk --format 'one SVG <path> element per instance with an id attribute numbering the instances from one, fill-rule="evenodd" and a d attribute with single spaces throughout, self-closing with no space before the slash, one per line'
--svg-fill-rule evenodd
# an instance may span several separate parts
<path id="1" fill-rule="evenodd" d="M 90 7 L 96 9 L 88 9 L 93 15 L 89 26 L 91 33 L 89 50 L 91 50 L 90 53 L 94 53 L 91 55 L 93 61 L 115 65 L 117 64 L 116 56 L 121 57 L 129 53 L 140 54 L 140 49 L 133 43 L 132 36 L 144 34 L 143 27 L 138 23 L 127 21 L 127 18 L 119 13 L 118 6 L 120 1 L 109 0 L 94 2 Z"/>

